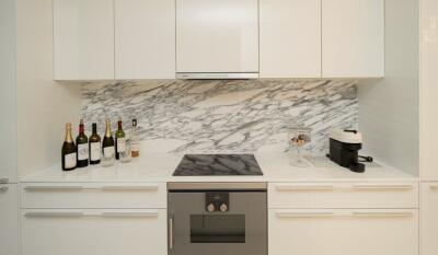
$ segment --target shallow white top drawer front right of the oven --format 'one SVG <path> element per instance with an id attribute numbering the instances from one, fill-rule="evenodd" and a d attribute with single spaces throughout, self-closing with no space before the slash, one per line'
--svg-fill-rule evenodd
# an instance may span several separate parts
<path id="1" fill-rule="evenodd" d="M 270 183 L 269 208 L 418 208 L 417 183 Z"/>

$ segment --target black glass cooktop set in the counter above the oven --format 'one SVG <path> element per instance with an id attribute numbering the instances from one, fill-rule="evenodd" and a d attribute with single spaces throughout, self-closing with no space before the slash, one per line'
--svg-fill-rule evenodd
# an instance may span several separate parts
<path id="1" fill-rule="evenodd" d="M 186 154 L 173 176 L 263 175 L 253 154 Z"/>

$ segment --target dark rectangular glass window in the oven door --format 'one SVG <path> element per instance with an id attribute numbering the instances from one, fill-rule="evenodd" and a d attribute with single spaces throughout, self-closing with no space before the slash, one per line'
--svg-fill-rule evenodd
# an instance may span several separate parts
<path id="1" fill-rule="evenodd" d="M 245 215 L 192 215 L 191 243 L 244 243 Z"/>

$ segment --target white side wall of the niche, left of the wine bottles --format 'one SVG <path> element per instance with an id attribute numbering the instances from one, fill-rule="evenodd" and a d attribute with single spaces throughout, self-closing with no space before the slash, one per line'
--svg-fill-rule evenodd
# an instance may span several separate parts
<path id="1" fill-rule="evenodd" d="M 80 86 L 53 81 L 51 2 L 16 0 L 20 176 L 60 162 L 65 123 L 80 117 Z"/>

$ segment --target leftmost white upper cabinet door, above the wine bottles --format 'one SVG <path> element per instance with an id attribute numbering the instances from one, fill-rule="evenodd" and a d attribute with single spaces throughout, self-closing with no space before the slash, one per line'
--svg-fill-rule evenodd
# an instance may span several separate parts
<path id="1" fill-rule="evenodd" d="M 54 0 L 55 80 L 114 79 L 113 0 Z"/>

